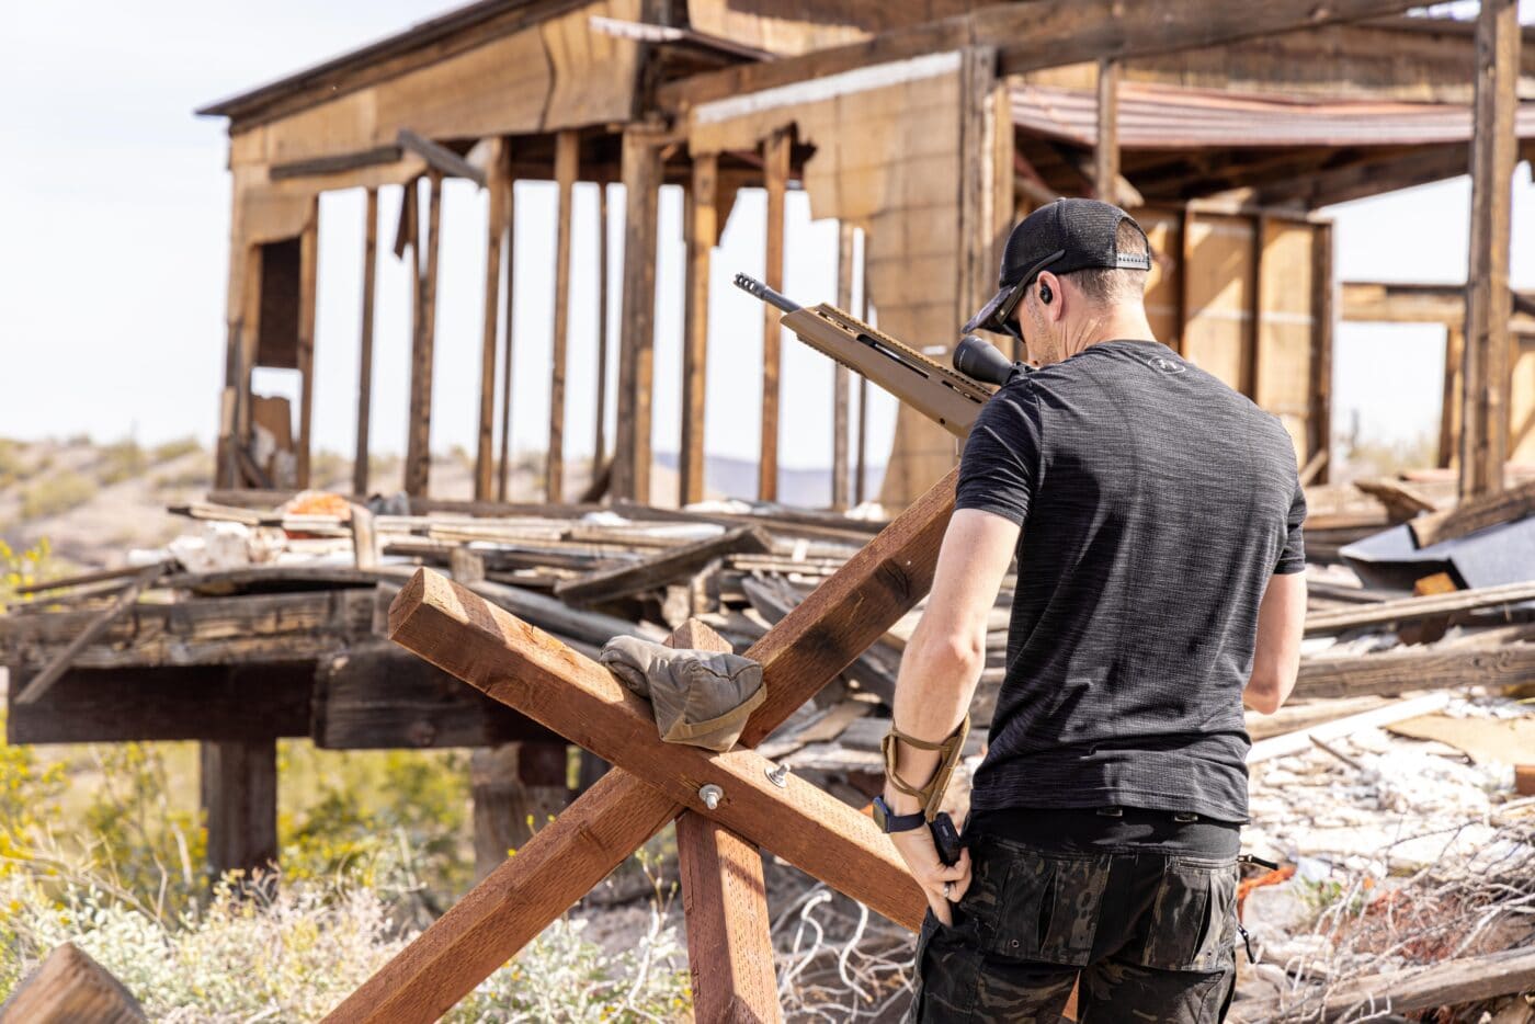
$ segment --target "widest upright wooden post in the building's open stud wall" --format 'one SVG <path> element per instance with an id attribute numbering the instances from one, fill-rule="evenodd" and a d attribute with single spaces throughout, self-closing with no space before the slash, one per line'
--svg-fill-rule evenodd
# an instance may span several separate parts
<path id="1" fill-rule="evenodd" d="M 655 365 L 655 201 L 662 150 L 651 132 L 623 132 L 623 315 L 619 319 L 619 418 L 614 497 L 651 499 L 651 382 Z"/>

